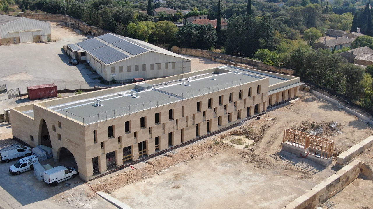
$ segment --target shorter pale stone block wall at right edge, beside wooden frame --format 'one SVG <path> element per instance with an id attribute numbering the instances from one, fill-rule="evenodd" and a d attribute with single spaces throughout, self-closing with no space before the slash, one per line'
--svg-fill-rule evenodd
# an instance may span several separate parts
<path id="1" fill-rule="evenodd" d="M 355 144 L 350 149 L 342 152 L 337 157 L 337 165 L 344 167 L 347 163 L 353 160 L 355 157 L 359 156 L 361 152 L 372 146 L 373 136 L 369 136 L 358 144 Z"/>

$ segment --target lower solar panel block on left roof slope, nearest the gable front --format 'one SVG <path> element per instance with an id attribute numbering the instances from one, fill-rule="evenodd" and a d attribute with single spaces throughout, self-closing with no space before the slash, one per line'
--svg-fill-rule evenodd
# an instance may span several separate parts
<path id="1" fill-rule="evenodd" d="M 97 57 L 99 60 L 103 61 L 105 64 L 110 64 L 119 60 L 123 60 L 128 56 L 122 52 L 113 49 L 110 46 L 103 46 L 97 49 L 90 51 L 94 57 Z"/>

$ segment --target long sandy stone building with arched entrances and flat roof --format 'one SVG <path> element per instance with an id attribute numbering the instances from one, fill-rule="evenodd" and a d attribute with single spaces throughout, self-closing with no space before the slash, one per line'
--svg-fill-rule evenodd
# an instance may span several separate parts
<path id="1" fill-rule="evenodd" d="M 298 96 L 300 78 L 224 65 L 10 109 L 32 147 L 68 149 L 84 180 Z"/>

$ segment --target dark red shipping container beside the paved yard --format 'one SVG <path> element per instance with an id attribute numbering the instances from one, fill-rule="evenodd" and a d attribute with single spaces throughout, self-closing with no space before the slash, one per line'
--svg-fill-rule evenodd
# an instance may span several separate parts
<path id="1" fill-rule="evenodd" d="M 30 100 L 57 96 L 57 86 L 54 83 L 28 86 L 27 94 Z"/>

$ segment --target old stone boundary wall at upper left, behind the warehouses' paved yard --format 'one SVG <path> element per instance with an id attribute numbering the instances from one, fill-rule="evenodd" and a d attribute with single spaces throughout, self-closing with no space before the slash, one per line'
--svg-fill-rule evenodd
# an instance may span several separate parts
<path id="1" fill-rule="evenodd" d="M 34 20 L 40 20 L 40 21 L 48 21 L 48 22 L 68 22 L 68 23 L 74 23 L 75 28 L 81 30 L 84 33 L 94 33 L 95 36 L 104 35 L 106 33 L 110 33 L 111 31 L 105 30 L 102 28 L 97 28 L 95 26 L 90 26 L 87 23 L 76 19 L 75 17 L 71 17 L 69 15 L 61 15 L 61 14 L 40 14 L 40 13 L 19 13 L 19 17 L 26 17 Z"/>

